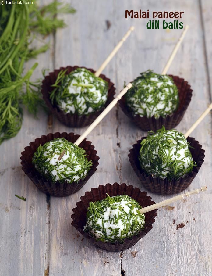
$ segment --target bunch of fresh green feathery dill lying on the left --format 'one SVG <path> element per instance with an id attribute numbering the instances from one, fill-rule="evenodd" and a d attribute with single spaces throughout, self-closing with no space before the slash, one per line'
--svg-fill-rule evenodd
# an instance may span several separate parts
<path id="1" fill-rule="evenodd" d="M 47 35 L 64 27 L 56 14 L 73 12 L 70 5 L 58 1 L 41 8 L 36 1 L 28 5 L 0 5 L 0 144 L 20 130 L 23 105 L 34 115 L 37 107 L 44 105 L 40 85 L 30 81 L 38 64 L 22 76 L 25 62 L 49 47 L 44 44 L 38 49 L 30 48 L 35 33 Z"/>

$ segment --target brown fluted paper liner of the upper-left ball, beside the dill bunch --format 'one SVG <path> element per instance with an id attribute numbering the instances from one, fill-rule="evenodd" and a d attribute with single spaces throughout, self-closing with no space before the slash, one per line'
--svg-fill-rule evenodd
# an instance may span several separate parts
<path id="1" fill-rule="evenodd" d="M 85 127 L 93 123 L 93 121 L 100 115 L 100 113 L 108 106 L 110 102 L 114 99 L 115 95 L 115 87 L 114 84 L 105 77 L 105 75 L 101 74 L 100 77 L 108 82 L 108 99 L 107 102 L 104 105 L 104 108 L 102 108 L 100 111 L 96 111 L 94 113 L 91 113 L 89 115 L 82 115 L 78 116 L 77 114 L 71 114 L 71 113 L 64 113 L 62 110 L 58 108 L 56 105 L 52 105 L 51 100 L 49 98 L 49 92 L 52 91 L 54 88 L 51 87 L 52 84 L 55 83 L 58 73 L 61 70 L 65 70 L 66 74 L 69 74 L 73 70 L 76 70 L 77 68 L 86 68 L 86 67 L 79 67 L 79 66 L 67 66 L 67 67 L 60 67 L 60 69 L 55 70 L 54 72 L 49 73 L 48 76 L 45 76 L 44 80 L 42 81 L 41 86 L 41 93 L 43 94 L 43 99 L 48 106 L 48 109 L 51 111 L 51 113 L 55 114 L 58 118 L 58 120 L 68 126 L 68 127 Z M 89 69 L 92 73 L 95 73 L 93 69 Z"/>

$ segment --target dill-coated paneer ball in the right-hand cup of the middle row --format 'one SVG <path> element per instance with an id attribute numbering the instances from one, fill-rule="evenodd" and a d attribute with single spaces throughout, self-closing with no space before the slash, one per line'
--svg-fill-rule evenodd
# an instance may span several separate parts
<path id="1" fill-rule="evenodd" d="M 196 166 L 185 136 L 164 127 L 156 133 L 149 131 L 147 138 L 141 141 L 139 160 L 148 174 L 161 179 L 168 177 L 169 181 L 185 177 Z"/>

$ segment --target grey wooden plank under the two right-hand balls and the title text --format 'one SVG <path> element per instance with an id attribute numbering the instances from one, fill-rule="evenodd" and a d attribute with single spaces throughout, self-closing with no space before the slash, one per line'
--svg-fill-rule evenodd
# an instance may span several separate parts
<path id="1" fill-rule="evenodd" d="M 137 3 L 137 6 L 135 2 L 133 4 L 135 10 L 139 9 L 139 3 Z M 168 73 L 184 77 L 189 81 L 194 91 L 185 117 L 177 127 L 178 130 L 185 132 L 210 102 L 199 5 L 198 2 L 193 1 L 187 1 L 186 5 L 182 1 L 177 3 L 163 1 L 162 3 L 157 4 L 155 2 L 154 4 L 155 10 L 185 11 L 186 16 L 183 21 L 190 25 L 184 43 L 168 71 Z M 125 2 L 125 5 L 122 3 L 122 6 L 125 9 L 128 5 Z M 143 10 L 147 8 L 147 4 L 142 5 Z M 116 10 L 118 10 L 118 4 Z M 124 20 L 120 24 L 124 24 Z M 130 52 L 129 56 L 126 57 L 126 59 L 134 60 L 132 62 L 133 66 L 130 66 L 131 70 L 125 66 L 122 68 L 122 75 L 129 76 L 126 81 L 135 78 L 140 71 L 149 68 L 160 72 L 179 36 L 179 32 L 175 30 L 170 32 L 144 30 L 143 25 L 138 20 L 134 20 L 133 24 L 135 24 L 137 31 L 137 43 L 135 42 L 137 51 Z M 138 43 L 139 41 L 140 44 Z M 136 62 L 138 52 L 142 61 L 140 64 Z M 120 64 L 117 65 L 119 68 L 121 67 L 122 56 L 123 49 L 117 55 L 117 59 L 120 60 Z M 117 83 L 122 81 L 120 76 Z M 129 150 L 132 144 L 144 136 L 145 133 L 132 126 L 122 111 L 118 114 L 120 118 L 118 121 L 118 132 L 121 137 L 120 151 L 126 156 L 126 149 Z M 200 195 L 200 197 L 188 199 L 186 202 L 175 203 L 173 205 L 175 207 L 174 210 L 161 208 L 158 211 L 158 217 L 153 229 L 139 243 L 123 252 L 122 268 L 125 270 L 125 275 L 140 275 L 141 271 L 144 275 L 210 275 L 211 238 L 209 214 L 211 213 L 211 207 L 204 207 L 211 201 L 210 126 L 211 118 L 208 116 L 191 135 L 203 145 L 206 150 L 206 158 L 200 173 L 188 189 L 192 190 L 201 185 L 207 185 L 209 191 L 204 195 Z M 122 179 L 126 183 L 134 184 L 143 190 L 128 160 L 124 160 L 124 158 L 122 160 Z M 168 198 L 168 196 L 149 194 L 156 202 Z M 173 224 L 173 219 L 175 219 L 175 224 Z M 186 223 L 187 221 L 188 223 Z M 185 227 L 177 230 L 176 224 L 180 223 L 185 223 Z M 137 252 L 136 255 L 133 252 Z"/>

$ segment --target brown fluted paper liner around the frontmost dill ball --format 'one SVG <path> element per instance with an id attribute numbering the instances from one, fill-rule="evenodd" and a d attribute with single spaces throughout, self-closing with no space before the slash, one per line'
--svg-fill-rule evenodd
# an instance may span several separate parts
<path id="1" fill-rule="evenodd" d="M 129 195 L 131 198 L 135 199 L 142 207 L 150 206 L 154 204 L 154 201 L 151 201 L 151 197 L 147 195 L 147 192 L 141 192 L 139 188 L 133 188 L 132 185 L 126 185 L 122 183 L 119 185 L 115 182 L 113 185 L 106 184 L 105 186 L 99 185 L 98 188 L 92 188 L 90 192 L 85 192 L 85 195 L 80 197 L 79 202 L 76 203 L 76 208 L 74 208 L 71 218 L 73 219 L 72 225 L 79 231 L 85 238 L 89 239 L 91 244 L 98 246 L 101 249 L 107 251 L 122 251 L 128 249 L 135 245 L 141 238 L 143 238 L 147 232 L 152 229 L 152 224 L 155 222 L 154 218 L 157 216 L 157 209 L 145 213 L 145 228 L 142 229 L 138 235 L 133 236 L 132 238 L 125 238 L 123 243 L 116 241 L 115 243 L 111 242 L 102 242 L 96 241 L 94 237 L 90 236 L 88 233 L 84 233 L 84 225 L 86 225 L 86 214 L 89 207 L 90 201 L 102 200 L 107 194 L 109 196 L 115 195 Z"/>

